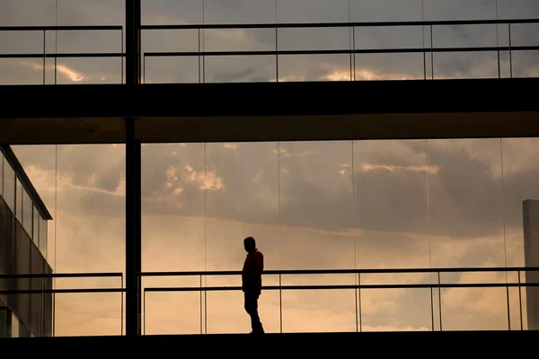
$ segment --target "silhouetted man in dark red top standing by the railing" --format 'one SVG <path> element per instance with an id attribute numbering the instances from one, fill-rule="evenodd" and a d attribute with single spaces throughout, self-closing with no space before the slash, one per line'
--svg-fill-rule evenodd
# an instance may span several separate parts
<path id="1" fill-rule="evenodd" d="M 252 237 L 247 237 L 243 240 L 243 247 L 247 251 L 242 274 L 245 311 L 251 316 L 252 334 L 262 334 L 264 329 L 258 314 L 258 299 L 262 290 L 264 256 L 256 249 L 256 242 Z"/>

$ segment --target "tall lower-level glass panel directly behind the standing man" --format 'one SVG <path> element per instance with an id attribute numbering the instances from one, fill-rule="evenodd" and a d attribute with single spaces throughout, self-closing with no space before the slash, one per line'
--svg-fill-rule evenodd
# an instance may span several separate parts
<path id="1" fill-rule="evenodd" d="M 243 239 L 253 237 L 264 269 L 278 269 L 278 145 L 206 144 L 207 269 L 241 270 Z M 278 285 L 264 276 L 263 285 Z M 210 276 L 208 286 L 241 286 L 240 276 Z M 278 296 L 263 291 L 259 314 L 267 332 L 278 332 Z M 262 302 L 264 298 L 264 302 Z M 275 301 L 277 300 L 277 301 Z M 208 293 L 208 333 L 249 333 L 243 293 Z M 268 317 L 271 315 L 271 318 Z"/>

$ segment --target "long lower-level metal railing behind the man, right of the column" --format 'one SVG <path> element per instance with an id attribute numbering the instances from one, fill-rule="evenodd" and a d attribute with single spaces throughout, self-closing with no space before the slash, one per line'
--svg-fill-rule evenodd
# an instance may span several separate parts
<path id="1" fill-rule="evenodd" d="M 524 330 L 523 307 L 522 307 L 522 288 L 536 287 L 539 283 L 525 283 L 522 281 L 522 272 L 537 272 L 539 267 L 455 267 L 455 268 L 411 268 L 411 269 L 333 269 L 333 270 L 267 270 L 263 276 L 278 276 L 278 285 L 265 285 L 263 291 L 278 291 L 279 297 L 279 328 L 283 332 L 283 291 L 290 290 L 354 290 L 356 299 L 356 331 L 362 331 L 362 311 L 361 311 L 361 291 L 369 289 L 429 289 L 430 290 L 430 315 L 432 330 L 435 330 L 435 302 L 434 291 L 437 290 L 438 303 L 437 311 L 439 315 L 439 330 L 442 331 L 442 301 L 441 290 L 446 288 L 506 288 L 508 303 L 508 330 L 511 330 L 511 312 L 509 308 L 509 288 L 518 288 L 519 318 L 520 330 Z M 443 283 L 440 279 L 441 274 L 448 273 L 517 273 L 517 281 L 506 280 L 505 283 Z M 383 274 L 429 274 L 435 275 L 435 283 L 427 284 L 393 284 L 393 285 L 367 285 L 362 284 L 362 275 L 383 275 Z M 199 292 L 199 311 L 200 311 L 200 334 L 207 332 L 208 328 L 208 292 L 234 292 L 242 291 L 241 286 L 204 286 L 203 278 L 207 276 L 241 276 L 241 271 L 193 271 L 193 272 L 143 272 L 139 276 L 198 276 L 199 286 L 182 287 L 145 287 L 143 291 L 143 331 L 146 334 L 146 293 L 164 293 L 164 292 Z M 282 285 L 283 276 L 287 275 L 354 275 L 354 285 Z M 507 278 L 507 276 L 506 276 Z"/>

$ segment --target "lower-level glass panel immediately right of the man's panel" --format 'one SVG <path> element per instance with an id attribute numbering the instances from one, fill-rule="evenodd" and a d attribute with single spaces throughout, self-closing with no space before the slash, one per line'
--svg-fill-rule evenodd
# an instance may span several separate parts
<path id="1" fill-rule="evenodd" d="M 279 146 L 282 269 L 355 268 L 351 142 Z M 354 285 L 343 275 L 286 276 L 283 285 Z M 282 293 L 283 330 L 355 331 L 354 290 Z"/>

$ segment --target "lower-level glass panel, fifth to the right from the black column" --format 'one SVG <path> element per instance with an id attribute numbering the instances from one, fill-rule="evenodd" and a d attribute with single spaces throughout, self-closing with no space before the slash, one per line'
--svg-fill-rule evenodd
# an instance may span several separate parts
<path id="1" fill-rule="evenodd" d="M 432 267 L 505 267 L 500 140 L 429 140 Z M 504 273 L 453 273 L 442 284 L 503 283 Z M 442 290 L 444 330 L 508 328 L 499 288 Z"/>

